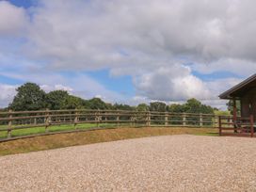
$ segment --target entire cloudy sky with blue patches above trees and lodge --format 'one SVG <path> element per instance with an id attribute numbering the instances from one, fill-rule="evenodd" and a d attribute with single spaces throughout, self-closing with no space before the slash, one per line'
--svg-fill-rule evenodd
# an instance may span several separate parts
<path id="1" fill-rule="evenodd" d="M 256 72 L 254 0 L 0 0 L 0 107 L 35 82 L 138 104 L 217 95 Z"/>

